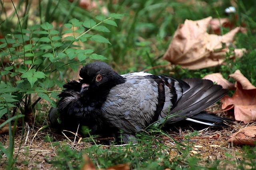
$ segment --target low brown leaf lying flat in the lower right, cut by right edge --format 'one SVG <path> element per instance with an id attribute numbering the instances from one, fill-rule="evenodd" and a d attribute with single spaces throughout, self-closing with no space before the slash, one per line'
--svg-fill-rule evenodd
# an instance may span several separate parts
<path id="1" fill-rule="evenodd" d="M 237 145 L 255 145 L 256 144 L 256 126 L 245 127 L 234 133 L 229 143 Z"/>

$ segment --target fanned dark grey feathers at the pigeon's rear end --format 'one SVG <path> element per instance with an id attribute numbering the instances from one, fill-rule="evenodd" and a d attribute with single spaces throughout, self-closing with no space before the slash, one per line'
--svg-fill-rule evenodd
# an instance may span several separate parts
<path id="1" fill-rule="evenodd" d="M 220 100 L 228 90 L 223 89 L 220 85 L 213 84 L 210 80 L 190 78 L 183 81 L 183 83 L 180 83 L 183 89 L 182 97 L 178 100 L 174 109 L 170 111 L 170 115 L 178 114 L 168 119 L 167 123 L 174 123 L 183 119 L 188 121 L 196 120 L 200 123 L 199 121 L 204 122 L 204 120 L 213 119 L 210 116 L 200 117 L 197 114 Z M 200 120 L 198 120 L 199 118 Z"/>

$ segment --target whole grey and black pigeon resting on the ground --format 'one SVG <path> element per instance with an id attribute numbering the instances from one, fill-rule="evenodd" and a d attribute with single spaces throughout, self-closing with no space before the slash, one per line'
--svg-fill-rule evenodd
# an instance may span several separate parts
<path id="1" fill-rule="evenodd" d="M 119 75 L 104 62 L 86 64 L 79 76 L 64 84 L 57 107 L 49 111 L 50 123 L 58 129 L 86 126 L 92 134 L 129 143 L 136 142 L 136 133 L 163 120 L 166 125 L 185 120 L 208 126 L 224 120 L 204 112 L 228 92 L 211 80 L 147 72 Z"/>

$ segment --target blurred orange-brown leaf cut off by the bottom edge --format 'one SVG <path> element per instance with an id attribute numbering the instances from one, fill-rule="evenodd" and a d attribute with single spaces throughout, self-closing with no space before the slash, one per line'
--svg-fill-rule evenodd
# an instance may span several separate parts
<path id="1" fill-rule="evenodd" d="M 84 154 L 84 166 L 82 166 L 81 170 L 96 170 L 94 164 L 90 160 L 89 156 Z M 130 170 L 129 164 L 119 164 L 115 166 L 110 166 L 107 169 L 98 169 L 98 170 Z"/>

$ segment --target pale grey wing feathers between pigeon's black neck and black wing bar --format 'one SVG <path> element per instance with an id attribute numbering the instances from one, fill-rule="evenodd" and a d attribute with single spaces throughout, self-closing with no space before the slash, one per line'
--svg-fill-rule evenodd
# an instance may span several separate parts
<path id="1" fill-rule="evenodd" d="M 113 87 L 101 107 L 102 116 L 125 133 L 136 133 L 154 116 L 158 84 L 144 76 L 125 74 L 126 82 Z"/>

